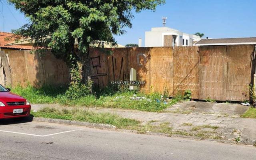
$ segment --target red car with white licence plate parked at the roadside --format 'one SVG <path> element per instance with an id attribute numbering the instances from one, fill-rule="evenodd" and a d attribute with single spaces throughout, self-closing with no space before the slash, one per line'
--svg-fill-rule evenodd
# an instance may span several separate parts
<path id="1" fill-rule="evenodd" d="M 0 85 L 0 119 L 26 117 L 30 115 L 30 109 L 28 100 Z"/>

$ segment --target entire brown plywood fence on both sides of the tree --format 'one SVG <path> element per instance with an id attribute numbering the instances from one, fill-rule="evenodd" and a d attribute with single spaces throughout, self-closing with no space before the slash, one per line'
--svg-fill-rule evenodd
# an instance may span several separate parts
<path id="1" fill-rule="evenodd" d="M 146 93 L 168 91 L 174 96 L 189 89 L 193 99 L 249 99 L 248 85 L 255 74 L 254 45 L 107 50 L 112 54 L 97 48 L 90 51 L 92 80 L 100 88 L 111 81 L 129 80 L 130 68 L 134 68 L 137 80 L 146 82 L 141 86 Z M 70 82 L 66 64 L 50 53 L 39 56 L 30 51 L 10 51 L 7 55 L 13 86 Z"/>

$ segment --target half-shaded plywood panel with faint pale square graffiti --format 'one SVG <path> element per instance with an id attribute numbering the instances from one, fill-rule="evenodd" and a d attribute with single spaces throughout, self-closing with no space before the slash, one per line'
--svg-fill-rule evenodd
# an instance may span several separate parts
<path id="1" fill-rule="evenodd" d="M 140 86 L 141 90 L 146 93 L 150 93 L 150 60 L 149 47 L 128 48 L 128 68 L 134 68 L 136 70 L 137 80 L 146 82 L 146 84 Z"/>

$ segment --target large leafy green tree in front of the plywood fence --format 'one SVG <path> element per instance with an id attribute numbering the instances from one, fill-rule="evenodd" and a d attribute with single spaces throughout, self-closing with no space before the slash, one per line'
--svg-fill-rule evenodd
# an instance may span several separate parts
<path id="1" fill-rule="evenodd" d="M 90 46 L 108 42 L 132 27 L 134 12 L 156 10 L 165 0 L 8 0 L 30 20 L 15 34 L 30 37 L 35 47 L 48 48 L 90 80 Z"/>

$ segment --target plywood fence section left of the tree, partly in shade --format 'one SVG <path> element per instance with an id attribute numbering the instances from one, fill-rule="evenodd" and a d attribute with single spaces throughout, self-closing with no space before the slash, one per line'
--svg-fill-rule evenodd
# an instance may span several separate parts
<path id="1" fill-rule="evenodd" d="M 42 86 L 43 84 L 68 84 L 68 68 L 62 60 L 56 59 L 50 52 L 40 56 L 30 50 L 8 51 L 12 87 L 20 84 Z"/>

